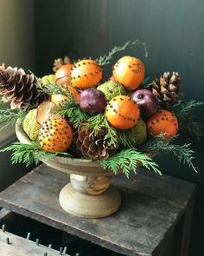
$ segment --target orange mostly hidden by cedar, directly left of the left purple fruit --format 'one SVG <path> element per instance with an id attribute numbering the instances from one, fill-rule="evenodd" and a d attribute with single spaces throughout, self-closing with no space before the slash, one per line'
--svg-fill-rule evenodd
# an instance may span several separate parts
<path id="1" fill-rule="evenodd" d="M 69 91 L 73 95 L 73 99 L 75 102 L 80 102 L 80 93 L 78 92 L 77 89 L 73 88 L 72 86 L 68 85 L 67 86 Z M 65 95 L 51 95 L 51 102 L 53 102 L 57 107 L 61 107 L 63 105 L 63 102 L 68 102 L 69 96 Z"/>

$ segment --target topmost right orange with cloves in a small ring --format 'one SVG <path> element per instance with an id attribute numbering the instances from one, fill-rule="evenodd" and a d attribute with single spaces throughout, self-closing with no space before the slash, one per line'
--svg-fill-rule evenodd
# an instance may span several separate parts
<path id="1" fill-rule="evenodd" d="M 124 56 L 115 63 L 112 75 L 114 80 L 122 83 L 126 90 L 137 89 L 143 82 L 143 62 L 136 57 Z"/>

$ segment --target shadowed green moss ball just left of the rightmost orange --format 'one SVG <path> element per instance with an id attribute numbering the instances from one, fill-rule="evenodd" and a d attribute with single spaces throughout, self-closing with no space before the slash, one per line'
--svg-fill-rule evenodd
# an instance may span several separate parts
<path id="1" fill-rule="evenodd" d="M 147 127 L 145 122 L 140 118 L 139 121 L 137 121 L 137 125 L 131 129 L 132 135 L 135 136 L 134 147 L 137 148 L 147 140 Z"/>

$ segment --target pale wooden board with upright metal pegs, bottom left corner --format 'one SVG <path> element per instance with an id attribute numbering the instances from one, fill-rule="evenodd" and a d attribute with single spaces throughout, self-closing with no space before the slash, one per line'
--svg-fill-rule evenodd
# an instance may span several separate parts
<path id="1" fill-rule="evenodd" d="M 38 242 L 23 239 L 13 233 L 3 232 L 0 230 L 0 255 L 1 256 L 58 256 L 59 251 L 56 251 L 47 246 L 42 246 Z M 64 248 L 63 248 L 64 249 Z M 62 249 L 62 252 L 63 252 Z M 61 254 L 62 255 L 62 254 Z M 63 255 L 68 255 L 63 253 Z"/>

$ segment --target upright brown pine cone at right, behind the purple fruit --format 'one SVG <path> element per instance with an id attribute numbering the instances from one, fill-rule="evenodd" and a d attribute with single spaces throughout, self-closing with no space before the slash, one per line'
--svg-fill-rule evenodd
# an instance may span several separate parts
<path id="1" fill-rule="evenodd" d="M 170 109 L 177 101 L 181 87 L 181 77 L 177 72 L 172 75 L 164 72 L 160 79 L 153 80 L 152 92 L 158 98 L 161 108 Z"/>

